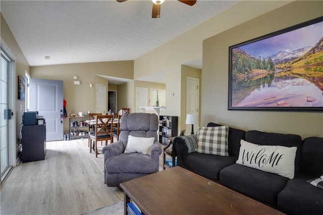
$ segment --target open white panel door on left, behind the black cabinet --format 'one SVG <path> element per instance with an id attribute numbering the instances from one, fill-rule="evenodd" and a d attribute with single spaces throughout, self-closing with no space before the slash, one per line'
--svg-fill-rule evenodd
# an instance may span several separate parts
<path id="1" fill-rule="evenodd" d="M 63 140 L 63 81 L 30 79 L 30 109 L 43 114 L 46 140 Z"/>

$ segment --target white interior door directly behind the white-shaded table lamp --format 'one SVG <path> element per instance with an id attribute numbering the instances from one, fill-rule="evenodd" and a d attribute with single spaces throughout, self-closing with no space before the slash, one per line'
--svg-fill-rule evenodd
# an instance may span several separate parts
<path id="1" fill-rule="evenodd" d="M 187 77 L 186 79 L 186 114 L 198 114 L 198 83 L 199 79 Z M 191 125 L 186 125 L 186 131 L 191 130 Z M 197 126 L 194 126 L 196 133 Z M 188 133 L 188 132 L 186 132 Z"/>

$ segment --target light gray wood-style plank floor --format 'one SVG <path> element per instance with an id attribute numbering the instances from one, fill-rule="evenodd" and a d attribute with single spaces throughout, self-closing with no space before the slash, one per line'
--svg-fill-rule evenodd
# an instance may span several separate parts
<path id="1" fill-rule="evenodd" d="M 87 144 L 47 142 L 45 160 L 15 167 L 1 188 L 0 214 L 82 214 L 123 200 L 121 188 L 104 184 L 103 154 L 96 158 Z M 161 154 L 159 171 L 162 162 Z"/>

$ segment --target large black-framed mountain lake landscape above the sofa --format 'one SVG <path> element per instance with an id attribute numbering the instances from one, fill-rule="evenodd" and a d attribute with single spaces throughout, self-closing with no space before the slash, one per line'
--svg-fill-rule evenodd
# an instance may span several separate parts
<path id="1" fill-rule="evenodd" d="M 323 111 L 323 17 L 230 46 L 228 109 Z"/>

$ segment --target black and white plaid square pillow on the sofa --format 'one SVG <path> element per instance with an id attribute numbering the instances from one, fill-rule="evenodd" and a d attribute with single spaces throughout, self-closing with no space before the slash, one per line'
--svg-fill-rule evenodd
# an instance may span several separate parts
<path id="1" fill-rule="evenodd" d="M 204 154 L 229 156 L 228 154 L 229 127 L 198 127 L 197 145 L 195 151 Z"/>

